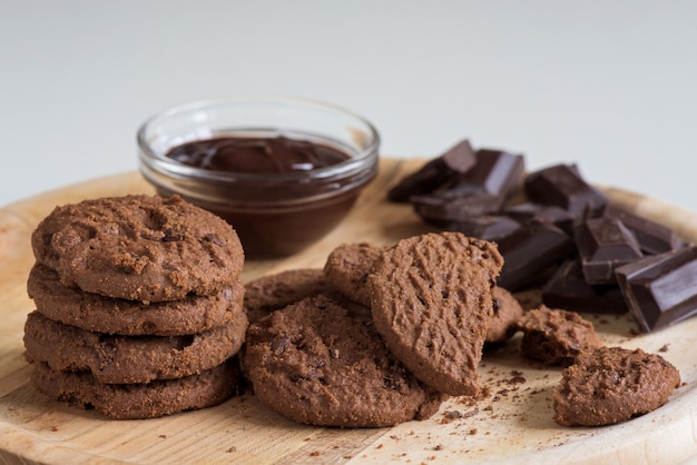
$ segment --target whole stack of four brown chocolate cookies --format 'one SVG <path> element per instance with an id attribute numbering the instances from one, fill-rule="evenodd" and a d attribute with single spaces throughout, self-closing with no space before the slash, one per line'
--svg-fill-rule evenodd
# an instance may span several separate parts
<path id="1" fill-rule="evenodd" d="M 237 390 L 244 253 L 223 219 L 177 196 L 102 198 L 57 207 L 31 240 L 24 347 L 41 392 L 148 418 Z"/>

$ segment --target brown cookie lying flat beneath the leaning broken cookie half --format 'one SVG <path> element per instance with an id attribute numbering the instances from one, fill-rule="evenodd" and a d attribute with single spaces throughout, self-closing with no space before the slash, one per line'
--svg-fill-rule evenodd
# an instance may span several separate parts
<path id="1" fill-rule="evenodd" d="M 262 403 L 304 424 L 392 426 L 430 417 L 443 399 L 387 350 L 367 308 L 336 295 L 252 324 L 243 365 Z"/>

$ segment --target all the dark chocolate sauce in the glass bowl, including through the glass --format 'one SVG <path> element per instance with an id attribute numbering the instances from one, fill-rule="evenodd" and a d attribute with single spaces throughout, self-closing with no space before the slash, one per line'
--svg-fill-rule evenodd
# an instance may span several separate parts
<path id="1" fill-rule="evenodd" d="M 351 158 L 322 144 L 286 137 L 229 136 L 186 142 L 166 157 L 210 171 L 227 171 L 234 181 L 215 179 L 188 182 L 196 198 L 185 199 L 218 215 L 237 231 L 248 258 L 295 254 L 332 230 L 356 200 L 366 179 L 312 176 L 311 170 Z M 272 174 L 302 174 L 276 177 Z M 269 176 L 254 179 L 234 174 Z M 372 178 L 372 176 L 371 176 Z M 159 186 L 160 195 L 174 190 Z"/>

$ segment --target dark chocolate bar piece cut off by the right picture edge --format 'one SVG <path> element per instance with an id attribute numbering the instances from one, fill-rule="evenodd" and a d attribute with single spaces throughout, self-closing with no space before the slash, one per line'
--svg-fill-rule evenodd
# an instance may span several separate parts
<path id="1" fill-rule="evenodd" d="M 615 271 L 641 329 L 651 332 L 697 315 L 697 247 L 632 261 Z"/>

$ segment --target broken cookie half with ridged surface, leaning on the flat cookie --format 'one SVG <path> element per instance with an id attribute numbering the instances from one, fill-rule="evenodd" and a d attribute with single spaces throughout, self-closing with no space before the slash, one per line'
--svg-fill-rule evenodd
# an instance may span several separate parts
<path id="1" fill-rule="evenodd" d="M 477 367 L 503 265 L 497 246 L 460 233 L 426 234 L 386 249 L 369 278 L 385 344 L 429 386 L 478 393 Z"/>

